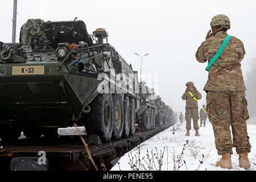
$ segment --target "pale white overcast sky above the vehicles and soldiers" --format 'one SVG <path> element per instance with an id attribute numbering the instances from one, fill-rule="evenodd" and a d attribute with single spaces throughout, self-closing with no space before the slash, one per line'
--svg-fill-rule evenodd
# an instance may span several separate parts
<path id="1" fill-rule="evenodd" d="M 11 42 L 13 1 L 1 2 L 0 41 Z M 197 62 L 195 52 L 216 14 L 229 16 L 228 34 L 241 39 L 245 46 L 242 71 L 246 80 L 256 56 L 255 5 L 255 1 L 18 0 L 16 42 L 27 19 L 73 20 L 77 16 L 84 20 L 89 34 L 96 28 L 105 28 L 108 42 L 135 71 L 140 71 L 141 61 L 134 52 L 150 53 L 143 57 L 142 72 L 159 74 L 160 96 L 175 111 L 184 112 L 185 101 L 181 96 L 188 81 L 193 81 L 203 95 L 199 107 L 206 104 L 203 87 L 208 78 L 207 63 Z"/>

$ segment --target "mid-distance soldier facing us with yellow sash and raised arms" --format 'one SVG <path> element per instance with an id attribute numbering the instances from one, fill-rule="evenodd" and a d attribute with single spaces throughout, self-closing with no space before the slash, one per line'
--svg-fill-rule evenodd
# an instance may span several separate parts
<path id="1" fill-rule="evenodd" d="M 187 89 L 185 90 L 185 93 L 181 97 L 183 100 L 186 100 L 186 106 L 185 106 L 185 119 L 186 119 L 186 129 L 187 133 L 186 136 L 189 136 L 189 130 L 191 130 L 191 118 L 193 118 L 193 127 L 196 130 L 196 136 L 199 137 L 199 126 L 198 126 L 198 104 L 197 100 L 200 100 L 202 98 L 201 93 L 197 91 L 196 87 L 194 86 L 193 82 L 187 82 L 186 84 Z"/>

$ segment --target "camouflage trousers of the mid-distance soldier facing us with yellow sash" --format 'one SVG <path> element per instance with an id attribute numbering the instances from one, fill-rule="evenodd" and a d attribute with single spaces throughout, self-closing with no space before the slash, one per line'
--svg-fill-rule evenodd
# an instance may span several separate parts
<path id="1" fill-rule="evenodd" d="M 186 109 L 185 112 L 185 119 L 186 119 L 186 129 L 191 130 L 191 118 L 193 118 L 193 127 L 194 130 L 199 130 L 198 126 L 198 119 L 199 119 L 199 114 L 198 114 L 198 109 Z"/>

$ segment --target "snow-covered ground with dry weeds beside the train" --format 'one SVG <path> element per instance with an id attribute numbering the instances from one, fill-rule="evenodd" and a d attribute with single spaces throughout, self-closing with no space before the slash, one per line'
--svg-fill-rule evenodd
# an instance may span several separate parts
<path id="1" fill-rule="evenodd" d="M 256 142 L 256 125 L 247 124 L 247 131 L 252 146 L 251 152 L 248 155 L 250 162 L 252 162 L 250 170 L 255 171 L 256 148 L 254 143 Z M 196 169 L 210 171 L 228 170 L 214 166 L 221 156 L 217 154 L 212 125 L 208 120 L 205 127 L 200 127 L 200 137 L 195 136 L 195 130 L 193 129 L 191 130 L 191 135 L 189 137 L 186 137 L 185 133 L 185 123 L 183 122 L 183 125 L 176 123 L 174 126 L 169 127 L 141 143 L 140 146 L 135 147 L 130 152 L 127 152 L 121 159 L 119 159 L 119 165 L 118 163 L 115 164 L 111 170 L 126 171 L 131 170 L 131 166 L 133 166 L 133 169 L 139 168 L 139 170 L 159 170 L 160 167 L 161 170 L 177 170 L 179 168 L 178 166 L 180 166 L 179 171 L 193 171 Z M 185 148 L 184 150 L 183 147 Z M 160 167 L 157 156 L 158 159 L 162 161 L 160 162 L 162 163 Z M 139 162 L 139 159 L 141 159 L 141 162 Z M 200 164 L 200 161 L 202 160 L 203 163 Z M 233 148 L 232 167 L 233 169 L 231 170 L 245 170 L 239 167 L 238 155 L 236 154 L 235 148 Z"/>

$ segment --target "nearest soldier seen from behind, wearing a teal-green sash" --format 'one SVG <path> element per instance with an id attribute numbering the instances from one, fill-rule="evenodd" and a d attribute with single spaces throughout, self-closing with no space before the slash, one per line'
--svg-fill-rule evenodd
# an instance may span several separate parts
<path id="1" fill-rule="evenodd" d="M 196 52 L 200 63 L 210 61 L 221 47 L 230 28 L 230 20 L 226 15 L 213 16 L 210 22 L 212 34 L 207 34 L 206 40 Z M 240 167 L 250 167 L 247 153 L 251 145 L 247 135 L 246 119 L 249 118 L 245 98 L 245 84 L 240 62 L 245 55 L 245 49 L 240 39 L 231 36 L 220 57 L 209 68 L 208 81 L 204 86 L 207 92 L 207 112 L 212 123 L 215 144 L 218 155 L 222 155 L 216 166 L 232 168 L 232 148 L 236 147 L 239 154 Z M 229 127 L 232 126 L 233 143 Z"/>

